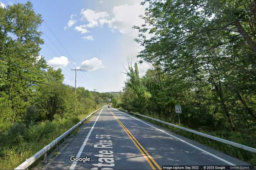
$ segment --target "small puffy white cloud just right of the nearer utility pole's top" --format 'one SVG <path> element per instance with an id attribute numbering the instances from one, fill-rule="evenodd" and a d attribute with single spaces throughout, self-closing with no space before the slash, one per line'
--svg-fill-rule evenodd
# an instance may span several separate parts
<path id="1" fill-rule="evenodd" d="M 81 69 L 82 71 L 85 71 L 85 72 L 94 71 L 100 68 L 104 68 L 104 66 L 102 65 L 101 60 L 99 60 L 96 57 L 91 58 L 90 60 L 83 61 L 81 63 L 81 66 L 77 67 L 77 69 Z"/>

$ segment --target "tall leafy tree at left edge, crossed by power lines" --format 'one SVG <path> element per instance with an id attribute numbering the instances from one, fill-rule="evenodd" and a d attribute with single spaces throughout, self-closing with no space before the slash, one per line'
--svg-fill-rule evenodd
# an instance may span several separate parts
<path id="1" fill-rule="evenodd" d="M 42 65 L 37 64 L 37 67 L 34 67 L 38 52 L 41 50 L 40 45 L 43 44 L 40 38 L 42 33 L 37 30 L 42 23 L 41 15 L 34 13 L 32 3 L 29 1 L 26 4 L 11 5 L 9 9 L 0 8 L 0 13 L 0 57 L 19 66 L 41 72 Z M 45 68 L 45 65 L 42 67 Z M 2 71 L 0 97 L 6 97 L 6 100 L 9 100 L 12 110 L 10 117 L 14 118 L 8 121 L 12 123 L 20 121 L 30 105 L 29 99 L 35 90 L 35 82 L 28 79 L 41 81 L 42 78 L 4 61 L 0 61 L 0 69 Z M 28 79 L 21 79 L 15 75 Z"/>

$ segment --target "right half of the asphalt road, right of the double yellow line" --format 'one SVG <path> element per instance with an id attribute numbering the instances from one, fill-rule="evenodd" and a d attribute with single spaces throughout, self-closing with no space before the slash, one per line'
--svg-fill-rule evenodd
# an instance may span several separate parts
<path id="1" fill-rule="evenodd" d="M 249 165 L 129 114 L 112 112 L 159 165 Z"/>

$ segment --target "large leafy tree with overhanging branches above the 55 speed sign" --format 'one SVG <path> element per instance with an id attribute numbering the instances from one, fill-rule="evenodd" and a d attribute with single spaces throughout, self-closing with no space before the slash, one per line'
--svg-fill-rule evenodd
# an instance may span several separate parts
<path id="1" fill-rule="evenodd" d="M 135 41 L 144 46 L 138 57 L 142 62 L 155 63 L 152 71 L 160 75 L 156 80 L 162 88 L 156 91 L 161 90 L 161 95 L 152 91 L 150 77 L 144 79 L 153 94 L 151 98 L 166 107 L 169 102 L 164 99 L 170 98 L 170 103 L 173 99 L 165 89 L 176 92 L 171 93 L 175 99 L 187 91 L 196 96 L 201 111 L 221 113 L 232 130 L 238 125 L 240 113 L 244 122 L 250 122 L 247 125 L 256 122 L 252 100 L 256 80 L 255 2 L 145 0 L 142 5 L 146 2 L 149 8 L 142 16 L 145 24 L 134 28 L 140 32 Z M 147 39 L 145 33 L 151 38 Z M 211 106 L 204 106 L 200 98 L 209 92 L 199 89 L 210 90 L 210 100 L 218 104 L 214 106 L 209 100 Z"/>

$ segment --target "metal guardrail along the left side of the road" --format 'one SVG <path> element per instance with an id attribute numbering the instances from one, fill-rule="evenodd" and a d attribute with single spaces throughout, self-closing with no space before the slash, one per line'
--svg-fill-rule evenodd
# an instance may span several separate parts
<path id="1" fill-rule="evenodd" d="M 101 107 L 102 108 L 102 107 Z M 44 155 L 44 162 L 46 163 L 46 153 L 47 151 L 49 151 L 53 146 L 57 145 L 57 150 L 58 150 L 58 142 L 60 142 L 63 138 L 66 139 L 66 136 L 70 134 L 70 132 L 72 132 L 74 129 L 76 129 L 79 125 L 81 125 L 85 120 L 87 120 L 92 114 L 96 113 L 98 110 L 100 110 L 101 108 L 97 109 L 95 112 L 92 112 L 91 114 L 89 114 L 86 118 L 84 118 L 83 120 L 81 120 L 79 123 L 77 123 L 76 125 L 74 125 L 72 128 L 70 128 L 69 130 L 67 130 L 66 132 L 64 132 L 64 134 L 60 135 L 59 137 L 57 137 L 54 141 L 52 141 L 51 143 L 49 143 L 47 146 L 45 146 L 43 149 L 41 149 L 40 151 L 38 151 L 36 154 L 34 154 L 32 157 L 26 159 L 25 162 L 23 162 L 22 164 L 20 164 L 19 166 L 17 166 L 15 169 L 27 169 L 31 164 L 33 164 L 37 159 L 39 159 L 42 155 Z"/>

